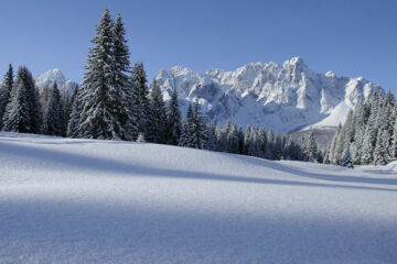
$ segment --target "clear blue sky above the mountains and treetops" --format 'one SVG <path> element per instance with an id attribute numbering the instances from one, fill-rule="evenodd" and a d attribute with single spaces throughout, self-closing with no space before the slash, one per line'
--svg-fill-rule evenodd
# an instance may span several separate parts
<path id="1" fill-rule="evenodd" d="M 397 94 L 395 1 L 18 1 L 1 0 L 0 74 L 61 68 L 82 80 L 105 8 L 121 13 L 131 61 L 151 79 L 175 65 L 233 70 L 301 56 L 315 72 L 364 76 Z"/>

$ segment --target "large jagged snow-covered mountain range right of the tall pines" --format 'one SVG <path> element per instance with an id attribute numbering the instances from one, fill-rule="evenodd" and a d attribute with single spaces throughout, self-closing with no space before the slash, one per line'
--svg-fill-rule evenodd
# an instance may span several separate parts
<path id="1" fill-rule="evenodd" d="M 173 67 L 160 70 L 155 80 L 165 100 L 176 90 L 184 112 L 197 99 L 214 123 L 230 119 L 243 127 L 280 132 L 335 127 L 361 99 L 382 89 L 362 77 L 314 73 L 300 57 L 282 65 L 251 63 L 235 72 L 210 69 L 201 74 Z"/>

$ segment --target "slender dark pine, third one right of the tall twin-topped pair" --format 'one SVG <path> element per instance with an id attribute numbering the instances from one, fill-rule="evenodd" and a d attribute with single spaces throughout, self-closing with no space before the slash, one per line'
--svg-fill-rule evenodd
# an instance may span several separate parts
<path id="1" fill-rule="evenodd" d="M 176 90 L 172 92 L 167 111 L 167 141 L 168 144 L 178 145 L 182 132 L 182 114 L 178 101 Z"/>

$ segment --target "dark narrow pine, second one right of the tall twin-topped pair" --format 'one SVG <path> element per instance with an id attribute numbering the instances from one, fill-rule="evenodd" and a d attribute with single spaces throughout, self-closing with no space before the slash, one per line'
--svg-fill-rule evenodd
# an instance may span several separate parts
<path id="1" fill-rule="evenodd" d="M 151 128 L 148 131 L 149 139 L 154 143 L 167 142 L 167 113 L 165 103 L 155 79 L 152 82 L 152 89 L 150 92 L 150 124 Z"/>

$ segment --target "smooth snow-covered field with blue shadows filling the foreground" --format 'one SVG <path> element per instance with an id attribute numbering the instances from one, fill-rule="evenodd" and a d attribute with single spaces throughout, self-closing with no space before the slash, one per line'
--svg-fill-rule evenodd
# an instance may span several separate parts
<path id="1" fill-rule="evenodd" d="M 397 263 L 396 169 L 0 133 L 0 263 Z"/>

